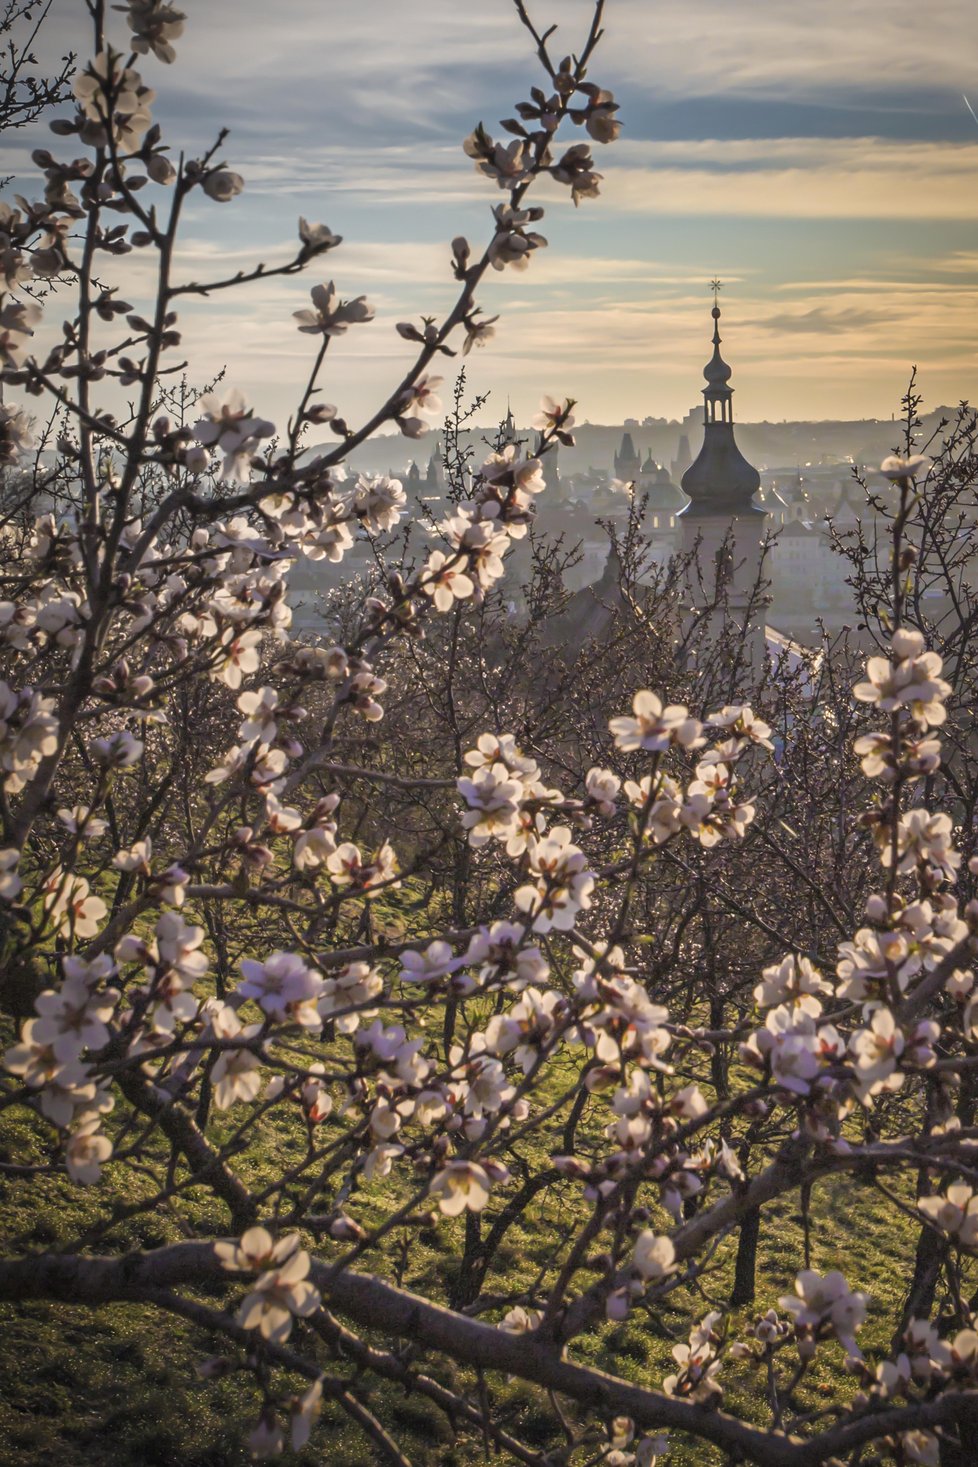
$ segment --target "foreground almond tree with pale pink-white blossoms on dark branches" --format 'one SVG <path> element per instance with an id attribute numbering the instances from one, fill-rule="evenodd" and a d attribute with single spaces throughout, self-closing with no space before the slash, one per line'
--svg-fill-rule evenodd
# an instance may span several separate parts
<path id="1" fill-rule="evenodd" d="M 317 283 L 295 312 L 315 343 L 309 377 L 282 430 L 233 390 L 180 411 L 179 305 L 296 274 L 340 241 L 301 220 L 282 266 L 177 277 L 186 201 L 233 204 L 243 180 L 223 138 L 174 161 L 152 122 L 139 67 L 174 60 L 183 15 L 120 9 L 129 35 L 113 45 L 92 0 L 78 109 L 56 123 L 81 156 L 38 153 L 44 198 L 3 219 L 3 381 L 54 411 L 57 453 L 19 469 L 26 408 L 3 408 L 0 899 L 7 1006 L 29 1015 L 0 1105 L 29 1116 L 45 1159 L 0 1168 L 38 1210 L 78 1187 L 94 1213 L 57 1251 L 3 1259 L 0 1300 L 130 1301 L 192 1322 L 214 1342 L 202 1375 L 252 1382 L 242 1433 L 258 1457 L 315 1441 L 328 1404 L 380 1460 L 408 1461 L 368 1398 L 374 1379 L 525 1463 L 650 1467 L 674 1436 L 760 1464 L 950 1460 L 978 1408 L 975 1131 L 953 1106 L 978 1067 L 978 915 L 955 898 L 952 820 L 922 798 L 947 685 L 903 626 L 902 521 L 890 645 L 855 688 L 878 717 L 858 748 L 878 789 L 862 817 L 880 874 L 865 924 L 828 964 L 780 954 L 738 1022 L 677 1022 L 650 978 L 655 932 L 636 921 L 636 892 L 666 851 L 745 839 L 774 754 L 748 704 L 699 716 L 636 685 L 576 785 L 551 783 L 510 728 L 474 731 L 450 779 L 349 760 L 364 731 L 381 736 L 402 647 L 433 619 L 477 613 L 499 584 L 544 489 L 540 459 L 491 453 L 342 643 L 290 637 L 286 599 L 292 565 L 340 560 L 355 534 L 405 515 L 400 484 L 345 461 L 377 428 L 415 437 L 438 412 L 435 356 L 491 334 L 484 277 L 545 245 L 534 183 L 547 175 L 575 202 L 598 191 L 589 142 L 557 138 L 607 144 L 619 129 L 611 94 L 588 81 L 603 0 L 560 62 L 516 0 L 543 85 L 503 125 L 512 141 L 479 125 L 465 144 L 501 202 L 481 252 L 452 245 L 456 304 L 397 327 L 416 358 L 353 427 L 318 400 L 320 380 L 372 311 Z M 142 310 L 101 283 L 133 251 L 155 273 Z M 47 352 L 37 279 L 57 282 L 54 301 L 76 292 Z M 119 386 L 125 415 L 103 399 Z M 544 399 L 541 450 L 570 425 L 572 403 Z M 327 427 L 336 445 L 308 452 Z M 927 465 L 889 472 L 909 506 Z M 173 808 L 201 710 L 229 747 Z M 478 921 L 427 908 L 437 849 L 403 822 L 355 820 L 340 794 L 353 776 L 418 804 L 452 795 L 465 858 L 485 871 Z M 764 1146 L 745 1152 L 760 1121 Z M 845 1267 L 799 1260 L 755 1320 L 711 1297 L 732 1229 L 840 1174 L 872 1178 L 928 1228 L 944 1269 L 940 1314 L 900 1322 L 883 1358 L 864 1354 L 872 1301 Z M 915 1194 L 913 1178 L 928 1185 Z M 144 1215 L 164 1216 L 172 1241 L 132 1247 Z M 499 1262 L 518 1218 L 545 1240 L 532 1276 Z M 459 1306 L 415 1244 L 457 1247 L 463 1232 L 481 1266 Z M 672 1367 L 635 1380 L 587 1363 L 584 1342 L 677 1309 Z M 845 1372 L 811 1411 L 799 1391 L 817 1361 Z M 506 1378 L 540 1388 L 547 1458 L 521 1411 L 499 1410 Z M 729 1394 L 743 1400 L 745 1383 L 749 1416 Z"/>

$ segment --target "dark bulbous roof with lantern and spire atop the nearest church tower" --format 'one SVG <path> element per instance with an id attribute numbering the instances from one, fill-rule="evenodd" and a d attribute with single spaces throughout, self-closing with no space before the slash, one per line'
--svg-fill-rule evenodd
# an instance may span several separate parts
<path id="1" fill-rule="evenodd" d="M 764 513 L 754 503 L 761 475 L 743 458 L 733 437 L 733 387 L 730 368 L 720 355 L 720 307 L 714 301 L 713 356 L 704 367 L 707 386 L 702 389 L 704 434 L 702 447 L 682 477 L 689 496 L 683 511 L 691 518 L 701 515 Z"/>

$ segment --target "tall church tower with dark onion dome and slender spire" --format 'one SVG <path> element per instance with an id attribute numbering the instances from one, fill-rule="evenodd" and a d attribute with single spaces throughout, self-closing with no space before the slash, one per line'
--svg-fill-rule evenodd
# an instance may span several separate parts
<path id="1" fill-rule="evenodd" d="M 702 447 L 682 477 L 689 503 L 682 511 L 682 547 L 695 555 L 689 574 L 689 606 L 695 619 L 710 619 L 711 635 L 743 637 L 749 663 L 764 656 L 764 616 L 751 610 L 761 566 L 765 513 L 754 503 L 761 478 L 733 437 L 730 368 L 720 355 L 720 307 L 714 282 L 713 356 L 704 367 Z"/>

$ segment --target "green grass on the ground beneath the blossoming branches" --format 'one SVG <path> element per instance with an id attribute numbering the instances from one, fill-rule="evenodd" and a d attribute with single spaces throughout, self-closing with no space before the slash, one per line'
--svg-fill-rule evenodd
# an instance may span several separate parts
<path id="1" fill-rule="evenodd" d="M 249 1185 L 280 1175 L 301 1156 L 299 1128 L 290 1111 L 270 1112 L 254 1144 L 236 1159 L 236 1169 Z M 217 1134 L 240 1119 L 238 1112 L 232 1116 L 217 1118 Z M 579 1150 L 587 1152 L 597 1140 L 603 1119 L 603 1106 L 585 1113 Z M 336 1118 L 328 1124 L 336 1124 Z M 48 1128 L 32 1113 L 16 1108 L 0 1113 L 1 1160 L 43 1163 L 48 1141 Z M 523 1143 L 521 1149 L 531 1168 L 545 1162 L 544 1138 Z M 394 1185 L 389 1178 L 358 1193 L 356 1216 L 365 1223 L 380 1221 L 390 1212 L 391 1201 L 403 1199 L 403 1187 L 402 1179 Z M 0 1181 L 4 1247 L 13 1254 L 72 1247 L 88 1228 L 111 1216 L 114 1201 L 132 1204 L 151 1190 L 148 1179 L 117 1165 L 110 1166 L 107 1178 L 95 1188 L 72 1187 L 57 1175 L 7 1175 Z M 642 1200 L 654 1207 L 654 1196 L 650 1187 Z M 510 1295 L 529 1291 L 550 1260 L 548 1248 L 566 1238 L 575 1213 L 582 1216 L 575 1184 L 562 1182 L 540 1194 L 506 1235 L 485 1291 Z M 223 1234 L 227 1226 L 220 1204 L 201 1188 L 183 1196 L 182 1216 L 204 1237 Z M 663 1215 L 658 1228 L 667 1225 Z M 116 1223 L 110 1238 L 95 1247 L 106 1251 L 151 1248 L 182 1235 L 177 1218 L 155 1209 Z M 869 1316 L 859 1339 L 869 1358 L 886 1356 L 909 1281 L 916 1229 L 871 1184 L 840 1175 L 815 1187 L 809 1238 L 814 1267 L 820 1272 L 839 1267 L 852 1288 L 869 1295 Z M 462 1243 L 460 1222 L 446 1221 L 438 1229 L 415 1234 L 403 1284 L 444 1300 L 459 1269 Z M 635 1310 L 625 1323 L 601 1323 L 573 1342 L 572 1358 L 658 1388 L 673 1366 L 672 1347 L 686 1338 L 691 1320 L 729 1298 L 735 1251 L 736 1238 L 732 1237 L 720 1245 L 695 1292 L 685 1287 L 676 1289 L 652 1317 Z M 802 1262 L 804 1228 L 793 1194 L 764 1209 L 758 1294 L 749 1309 L 730 1320 L 733 1335 L 742 1334 L 755 1314 L 777 1306 L 779 1297 L 792 1292 Z M 368 1256 L 367 1266 L 391 1273 L 394 1248 Z M 211 1297 L 208 1303 L 221 1301 Z M 226 1303 L 233 1306 L 233 1292 Z M 383 1338 L 374 1342 L 390 1345 Z M 98 1311 L 56 1304 L 0 1307 L 0 1467 L 35 1461 L 59 1467 L 233 1467 L 246 1463 L 245 1436 L 260 1407 L 251 1376 L 235 1372 L 218 1380 L 199 1380 L 194 1369 L 202 1357 L 220 1350 L 221 1342 L 201 1329 L 147 1307 L 113 1306 Z M 786 1360 L 790 1369 L 793 1351 L 786 1353 Z M 427 1363 L 425 1369 L 443 1383 L 453 1383 L 450 1361 Z M 724 1367 L 721 1379 L 726 1408 L 745 1420 L 762 1422 L 764 1382 L 733 1361 Z M 459 1383 L 471 1388 L 471 1376 L 460 1373 Z M 424 1398 L 406 1397 L 386 1383 L 365 1382 L 365 1386 L 368 1404 L 402 1442 L 415 1467 L 428 1463 L 475 1467 L 484 1461 L 481 1438 L 463 1423 L 453 1439 L 444 1417 Z M 843 1369 L 842 1347 L 828 1344 L 820 1350 L 792 1407 L 818 1410 L 831 1401 L 845 1401 L 855 1389 L 853 1378 Z M 509 1426 L 531 1446 L 556 1445 L 553 1413 L 543 1392 L 501 1378 L 490 1382 L 490 1391 L 494 1420 L 500 1426 Z M 327 1404 L 309 1448 L 292 1460 L 369 1467 L 378 1458 L 346 1416 Z M 683 1442 L 674 1444 L 670 1458 L 673 1467 L 711 1467 L 720 1460 L 702 1444 Z"/>

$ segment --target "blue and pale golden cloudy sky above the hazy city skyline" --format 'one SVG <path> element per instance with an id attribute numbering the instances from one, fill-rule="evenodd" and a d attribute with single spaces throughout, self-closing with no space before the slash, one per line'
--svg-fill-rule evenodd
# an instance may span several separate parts
<path id="1" fill-rule="evenodd" d="M 587 0 L 529 7 L 557 23 L 556 54 L 578 48 Z M 345 241 L 305 276 L 191 308 L 192 378 L 226 367 L 283 422 L 315 351 L 292 311 L 334 279 L 375 307 L 324 378 L 355 424 L 409 361 L 394 323 L 453 304 L 452 238 L 488 238 L 503 195 L 462 139 L 479 120 L 499 133 L 541 79 L 529 38 L 512 0 L 183 9 L 177 62 L 141 63 L 154 117 L 188 156 L 230 128 L 223 156 L 245 192 L 188 210 L 177 273 L 284 260 L 301 214 Z M 54 0 L 41 41 L 48 56 L 67 45 L 91 51 L 81 0 Z M 484 421 L 509 398 L 526 422 L 544 393 L 576 398 L 592 422 L 682 417 L 702 386 L 714 276 L 745 421 L 889 418 L 911 364 L 925 408 L 978 398 L 974 0 L 609 0 L 589 79 L 620 101 L 622 138 L 594 145 L 601 197 L 575 210 L 548 182 L 548 248 L 478 293 L 500 315 L 466 359 L 471 392 L 491 393 Z M 23 183 L 22 139 L 0 147 L 0 167 Z"/>

